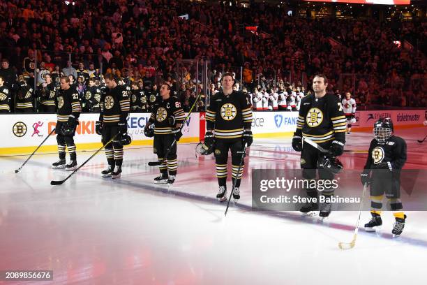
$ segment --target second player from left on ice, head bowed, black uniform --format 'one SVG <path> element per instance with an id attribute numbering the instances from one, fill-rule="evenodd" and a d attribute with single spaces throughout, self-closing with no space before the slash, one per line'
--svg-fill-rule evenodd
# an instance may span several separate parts
<path id="1" fill-rule="evenodd" d="M 130 88 L 117 85 L 119 81 L 112 73 L 105 74 L 105 91 L 100 98 L 99 121 L 96 122 L 96 133 L 102 136 L 102 142 L 107 156 L 108 167 L 101 172 L 105 178 L 121 177 L 121 164 L 123 163 L 123 145 L 120 138 L 127 136 L 128 124 L 126 122 L 129 110 Z M 108 143 L 112 138 L 112 142 Z"/>

